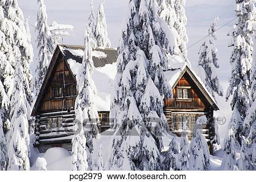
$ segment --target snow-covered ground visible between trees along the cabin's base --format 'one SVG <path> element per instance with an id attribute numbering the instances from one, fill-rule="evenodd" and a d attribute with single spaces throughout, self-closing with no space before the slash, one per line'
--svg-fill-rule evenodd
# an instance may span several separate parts
<path id="1" fill-rule="evenodd" d="M 98 154 L 98 150 L 100 146 L 104 148 L 102 151 L 102 158 L 104 165 L 106 161 L 108 160 L 111 150 L 111 141 L 112 141 L 112 135 L 113 131 L 105 131 L 101 134 L 100 138 L 98 140 L 94 140 L 94 153 L 93 158 L 97 159 L 96 155 Z M 164 143 L 164 150 L 168 150 L 168 144 L 170 143 L 170 138 L 172 136 L 165 135 L 163 137 L 163 143 Z M 239 152 L 239 151 L 237 151 Z M 72 164 L 72 156 L 71 152 L 65 150 L 64 148 L 50 148 L 46 151 L 46 153 L 39 154 L 37 150 L 35 150 L 32 153 L 31 158 L 31 170 L 37 171 L 38 168 L 36 167 L 36 159 L 38 157 L 43 157 L 47 161 L 47 170 L 48 171 L 70 171 L 71 170 L 71 164 Z M 220 170 L 222 156 L 224 155 L 224 152 L 222 150 L 216 151 L 214 156 L 210 156 L 210 170 L 212 171 L 218 171 Z M 237 153 L 237 159 L 240 158 L 239 153 Z"/>

